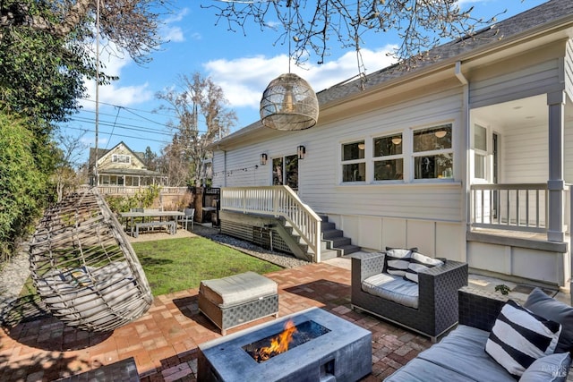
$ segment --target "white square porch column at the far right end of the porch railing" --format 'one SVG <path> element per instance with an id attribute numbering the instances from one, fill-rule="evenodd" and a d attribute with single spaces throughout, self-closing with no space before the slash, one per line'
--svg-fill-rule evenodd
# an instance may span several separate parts
<path id="1" fill-rule="evenodd" d="M 564 91 L 547 94 L 549 106 L 549 190 L 547 240 L 563 242 L 565 181 L 563 180 Z"/>

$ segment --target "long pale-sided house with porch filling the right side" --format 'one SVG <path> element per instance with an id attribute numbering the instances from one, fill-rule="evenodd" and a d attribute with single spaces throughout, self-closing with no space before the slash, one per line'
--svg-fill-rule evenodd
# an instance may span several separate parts
<path id="1" fill-rule="evenodd" d="M 433 49 L 411 71 L 320 91 L 311 129 L 257 122 L 218 140 L 222 229 L 277 229 L 245 226 L 242 213 L 280 216 L 304 233 L 319 214 L 363 250 L 418 247 L 475 272 L 567 284 L 572 37 L 573 2 L 552 0 Z M 288 215 L 306 208 L 298 221 Z"/>

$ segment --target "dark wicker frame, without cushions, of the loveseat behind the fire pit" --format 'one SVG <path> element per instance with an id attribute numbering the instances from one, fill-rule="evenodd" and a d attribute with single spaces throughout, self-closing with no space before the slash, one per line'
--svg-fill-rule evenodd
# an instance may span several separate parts
<path id="1" fill-rule="evenodd" d="M 366 293 L 364 279 L 384 270 L 384 253 L 361 253 L 352 259 L 352 309 L 363 310 L 422 335 L 432 342 L 458 323 L 458 289 L 467 285 L 467 264 L 447 260 L 418 274 L 418 308 Z"/>

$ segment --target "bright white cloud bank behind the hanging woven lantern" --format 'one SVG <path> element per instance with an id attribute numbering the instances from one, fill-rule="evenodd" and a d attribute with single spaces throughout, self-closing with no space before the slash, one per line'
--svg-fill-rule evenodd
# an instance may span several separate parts
<path id="1" fill-rule="evenodd" d="M 393 64 L 392 59 L 387 55 L 391 49 L 392 47 L 382 47 L 378 50 L 362 49 L 366 73 L 378 71 Z M 258 109 L 261 94 L 269 82 L 281 73 L 288 72 L 288 59 L 286 55 L 270 58 L 256 55 L 233 60 L 213 60 L 203 66 L 207 75 L 223 89 L 231 107 Z M 326 64 L 307 64 L 305 69 L 292 64 L 291 72 L 308 81 L 312 89 L 317 92 L 359 74 L 354 52 L 346 53 Z"/>

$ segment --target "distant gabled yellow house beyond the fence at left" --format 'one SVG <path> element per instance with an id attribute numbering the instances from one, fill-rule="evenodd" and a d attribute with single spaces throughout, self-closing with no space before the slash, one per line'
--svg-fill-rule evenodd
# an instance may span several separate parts
<path id="1" fill-rule="evenodd" d="M 98 149 L 99 186 L 143 187 L 167 184 L 167 176 L 148 170 L 143 153 L 132 151 L 123 141 L 112 149 Z M 96 149 L 90 149 L 90 184 L 95 184 Z"/>

